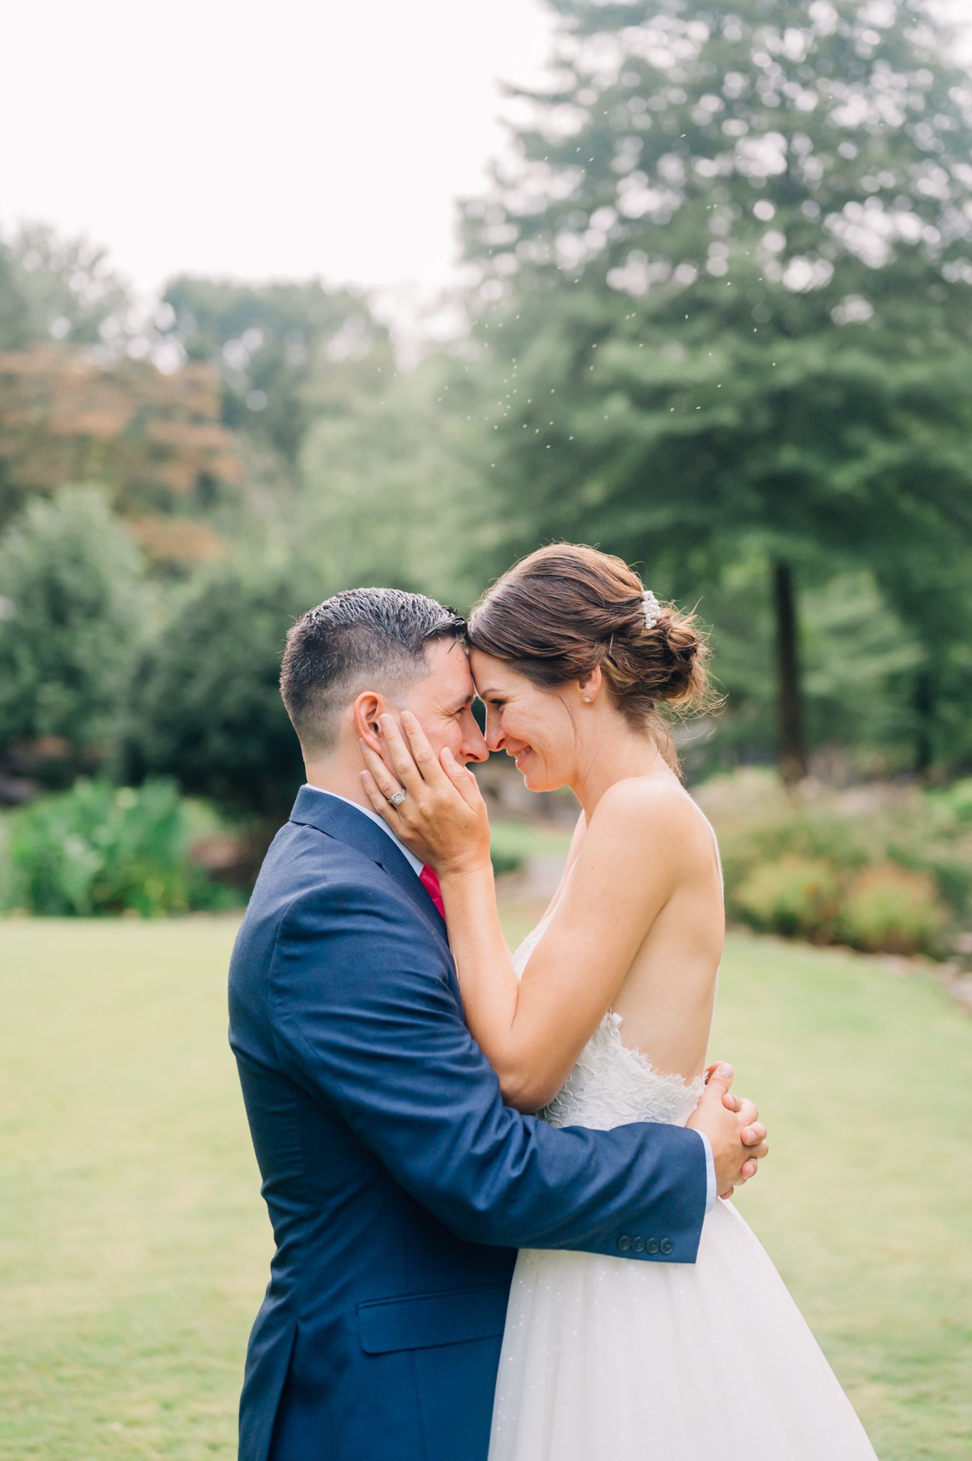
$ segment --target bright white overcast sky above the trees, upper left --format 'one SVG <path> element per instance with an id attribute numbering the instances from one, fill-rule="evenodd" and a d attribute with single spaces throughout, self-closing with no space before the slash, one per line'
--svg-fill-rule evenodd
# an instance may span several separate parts
<path id="1" fill-rule="evenodd" d="M 108 247 L 143 294 L 178 272 L 450 282 L 455 199 L 536 83 L 540 0 L 34 0 L 4 15 L 0 229 Z M 397 301 L 397 302 L 396 302 Z"/>

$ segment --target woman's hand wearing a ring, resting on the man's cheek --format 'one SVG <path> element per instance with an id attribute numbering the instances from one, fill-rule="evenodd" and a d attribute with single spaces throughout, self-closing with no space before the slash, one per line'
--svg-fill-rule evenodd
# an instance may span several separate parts
<path id="1" fill-rule="evenodd" d="M 409 710 L 401 725 L 407 741 L 393 716 L 379 717 L 382 755 L 360 742 L 368 766 L 362 785 L 371 805 L 439 877 L 487 866 L 489 817 L 476 777 L 448 748 L 436 757 Z M 404 801 L 393 806 L 390 798 L 401 790 Z"/>

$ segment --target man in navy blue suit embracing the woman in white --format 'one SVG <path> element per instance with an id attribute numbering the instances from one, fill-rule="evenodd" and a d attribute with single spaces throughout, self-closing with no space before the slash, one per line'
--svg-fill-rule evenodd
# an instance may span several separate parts
<path id="1" fill-rule="evenodd" d="M 355 589 L 288 636 L 280 690 L 308 785 L 229 970 L 276 1239 L 241 1461 L 486 1461 L 517 1248 L 693 1262 L 715 1192 L 765 1153 L 728 1068 L 692 1131 L 558 1131 L 502 1105 L 435 885 L 359 779 L 359 739 L 377 747 L 378 716 L 401 709 L 436 751 L 486 760 L 461 634 L 420 595 Z"/>

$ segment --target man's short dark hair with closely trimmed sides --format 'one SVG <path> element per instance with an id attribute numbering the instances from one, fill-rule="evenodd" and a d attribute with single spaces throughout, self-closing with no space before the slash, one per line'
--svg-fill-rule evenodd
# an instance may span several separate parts
<path id="1" fill-rule="evenodd" d="M 330 751 L 340 720 L 363 690 L 394 697 L 428 672 L 425 646 L 460 638 L 454 609 L 403 589 L 346 589 L 288 633 L 280 694 L 304 754 Z"/>

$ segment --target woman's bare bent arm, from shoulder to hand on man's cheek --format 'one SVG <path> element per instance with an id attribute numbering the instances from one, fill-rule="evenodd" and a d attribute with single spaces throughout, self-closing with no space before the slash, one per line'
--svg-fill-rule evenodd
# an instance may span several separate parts
<path id="1" fill-rule="evenodd" d="M 439 766 L 413 717 L 403 716 L 403 725 L 414 761 L 394 723 L 382 723 L 394 776 L 369 755 L 365 785 L 396 834 L 436 868 L 467 1024 L 508 1105 L 537 1110 L 560 1090 L 686 871 L 689 799 L 677 787 L 642 782 L 601 798 L 550 925 L 517 980 L 476 779 L 448 752 Z M 387 798 L 398 785 L 407 796 L 393 808 Z"/>

